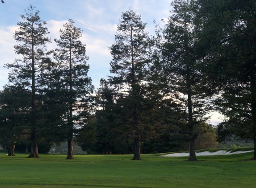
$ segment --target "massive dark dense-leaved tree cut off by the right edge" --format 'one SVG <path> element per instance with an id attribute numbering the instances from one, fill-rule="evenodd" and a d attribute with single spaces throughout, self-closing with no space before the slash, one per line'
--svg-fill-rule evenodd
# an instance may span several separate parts
<path id="1" fill-rule="evenodd" d="M 221 96 L 218 110 L 227 118 L 219 130 L 254 139 L 256 159 L 256 2 L 197 1 L 198 28 L 207 46 L 205 62 Z M 214 36 L 213 32 L 214 31 Z"/>

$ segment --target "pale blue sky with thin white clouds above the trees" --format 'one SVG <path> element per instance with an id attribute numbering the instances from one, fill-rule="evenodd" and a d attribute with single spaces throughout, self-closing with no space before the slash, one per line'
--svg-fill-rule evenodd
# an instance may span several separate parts
<path id="1" fill-rule="evenodd" d="M 14 53 L 14 45 L 18 43 L 13 39 L 17 29 L 17 22 L 22 21 L 20 15 L 29 4 L 40 11 L 40 17 L 47 22 L 52 43 L 48 49 L 55 49 L 53 39 L 59 38 L 59 29 L 70 18 L 75 26 L 83 30 L 81 41 L 86 44 L 87 55 L 90 57 L 88 75 L 92 84 L 97 88 L 101 78 L 110 75 L 109 62 L 112 57 L 108 47 L 114 43 L 118 20 L 122 12 L 129 8 L 136 11 L 143 22 L 147 23 L 146 30 L 150 35 L 155 34 L 155 24 L 163 25 L 171 15 L 172 0 L 4 0 L 0 3 L 0 90 L 8 82 L 8 69 L 5 63 L 11 63 L 19 58 Z M 210 123 L 220 122 L 220 115 L 213 113 Z"/>

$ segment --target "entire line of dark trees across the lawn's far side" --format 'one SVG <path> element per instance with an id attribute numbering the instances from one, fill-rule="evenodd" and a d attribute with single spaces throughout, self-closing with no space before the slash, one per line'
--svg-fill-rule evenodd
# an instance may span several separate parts
<path id="1" fill-rule="evenodd" d="M 47 51 L 46 22 L 29 6 L 14 34 L 22 58 L 5 65 L 9 84 L 0 93 L 0 131 L 10 151 L 30 137 L 35 158 L 42 140 L 67 140 L 73 159 L 76 140 L 88 153 L 133 153 L 134 160 L 188 147 L 195 161 L 196 149 L 218 144 L 206 124 L 214 110 L 226 117 L 219 141 L 235 135 L 256 143 L 256 2 L 171 5 L 154 36 L 136 12 L 122 13 L 109 47 L 112 76 L 101 79 L 95 94 L 82 30 L 69 19 L 54 40 L 58 48 Z"/>

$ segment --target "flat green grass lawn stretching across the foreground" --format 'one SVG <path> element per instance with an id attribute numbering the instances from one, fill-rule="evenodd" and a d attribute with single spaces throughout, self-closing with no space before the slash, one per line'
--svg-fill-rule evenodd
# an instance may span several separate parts
<path id="1" fill-rule="evenodd" d="M 0 188 L 245 188 L 256 187 L 256 161 L 237 155 L 188 157 L 142 155 L 6 156 L 0 153 Z"/>

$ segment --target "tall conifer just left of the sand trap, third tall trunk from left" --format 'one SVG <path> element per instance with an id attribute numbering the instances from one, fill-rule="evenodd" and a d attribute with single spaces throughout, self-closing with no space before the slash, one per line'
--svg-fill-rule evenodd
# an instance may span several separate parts
<path id="1" fill-rule="evenodd" d="M 133 10 L 122 13 L 115 43 L 109 47 L 109 82 L 117 94 L 116 105 L 122 112 L 116 121 L 123 135 L 134 139 L 133 160 L 141 160 L 141 140 L 154 137 L 155 124 L 150 123 L 153 107 L 159 106 L 160 95 L 148 72 L 154 40 L 145 31 L 146 23 Z M 143 136 L 143 137 L 142 137 Z"/>

